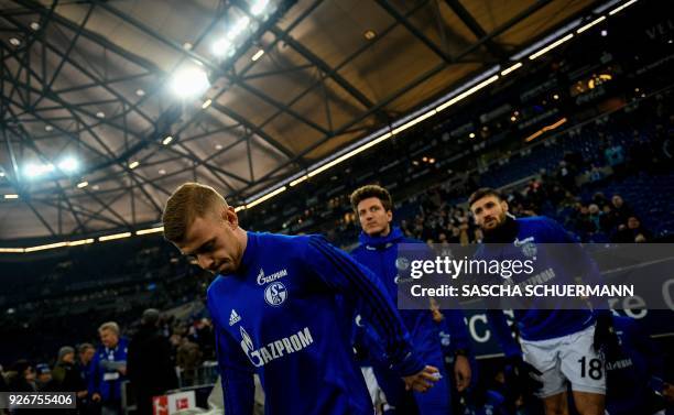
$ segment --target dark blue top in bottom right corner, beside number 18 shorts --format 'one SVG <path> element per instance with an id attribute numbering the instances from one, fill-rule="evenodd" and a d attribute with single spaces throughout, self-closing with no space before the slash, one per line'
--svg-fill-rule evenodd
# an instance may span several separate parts
<path id="1" fill-rule="evenodd" d="M 663 356 L 639 321 L 613 317 L 620 354 L 606 362 L 606 408 L 611 415 L 653 413 L 654 392 L 662 392 Z"/>

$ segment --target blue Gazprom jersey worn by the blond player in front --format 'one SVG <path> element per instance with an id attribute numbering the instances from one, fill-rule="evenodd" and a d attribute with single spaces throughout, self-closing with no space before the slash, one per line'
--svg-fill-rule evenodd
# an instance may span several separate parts
<path id="1" fill-rule="evenodd" d="M 226 414 L 252 413 L 253 371 L 267 414 L 372 414 L 337 294 L 377 328 L 393 370 L 424 368 L 385 290 L 362 265 L 320 237 L 248 232 L 239 270 L 208 288 Z"/>

